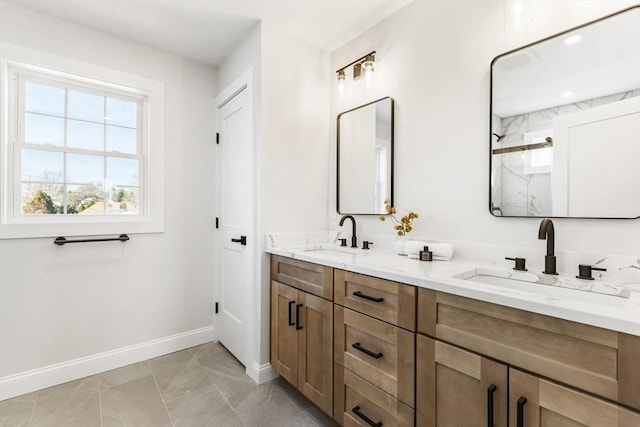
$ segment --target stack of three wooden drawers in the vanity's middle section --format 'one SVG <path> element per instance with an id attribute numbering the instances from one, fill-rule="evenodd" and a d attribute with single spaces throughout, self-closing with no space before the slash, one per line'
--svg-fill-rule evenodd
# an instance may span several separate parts
<path id="1" fill-rule="evenodd" d="M 334 419 L 413 426 L 416 288 L 335 270 Z"/>

